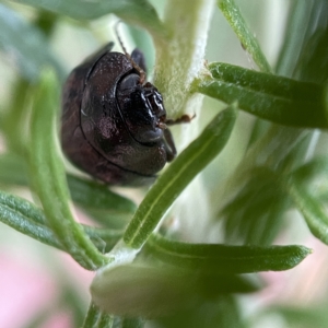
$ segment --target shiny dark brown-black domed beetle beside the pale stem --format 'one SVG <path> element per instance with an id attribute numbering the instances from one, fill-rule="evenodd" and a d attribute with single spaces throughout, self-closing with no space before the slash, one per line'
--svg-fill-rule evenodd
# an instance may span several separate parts
<path id="1" fill-rule="evenodd" d="M 110 185 L 147 185 L 176 151 L 155 86 L 140 83 L 131 59 L 110 43 L 69 75 L 62 95 L 67 157 Z M 140 50 L 132 60 L 144 69 Z"/>

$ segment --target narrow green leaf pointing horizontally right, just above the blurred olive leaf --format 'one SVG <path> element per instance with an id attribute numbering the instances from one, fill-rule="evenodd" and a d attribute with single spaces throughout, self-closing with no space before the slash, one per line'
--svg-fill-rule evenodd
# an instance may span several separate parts
<path id="1" fill-rule="evenodd" d="M 296 245 L 260 247 L 187 244 L 160 235 L 153 235 L 148 245 L 151 253 L 164 262 L 211 274 L 289 270 L 312 251 Z"/>

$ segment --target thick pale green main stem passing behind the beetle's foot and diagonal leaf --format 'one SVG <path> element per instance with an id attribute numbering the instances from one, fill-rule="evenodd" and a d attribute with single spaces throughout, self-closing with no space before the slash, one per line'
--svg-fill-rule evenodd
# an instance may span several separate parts
<path id="1" fill-rule="evenodd" d="M 214 0 L 167 0 L 164 15 L 164 25 L 168 30 L 167 42 L 154 39 L 154 85 L 163 94 L 168 118 L 178 118 L 184 113 L 196 114 L 197 117 L 200 114 L 203 96 L 191 94 L 189 89 L 204 68 L 208 31 L 214 4 Z M 197 117 L 188 127 L 174 129 L 178 152 L 197 137 Z M 206 220 L 195 220 L 207 216 L 209 204 L 204 195 L 203 181 L 198 176 L 172 209 L 173 216 L 178 220 L 179 226 L 184 226 L 184 232 L 191 241 L 197 239 L 192 237 L 192 232 L 203 231 L 206 225 Z M 198 237 L 201 238 L 201 233 Z"/>

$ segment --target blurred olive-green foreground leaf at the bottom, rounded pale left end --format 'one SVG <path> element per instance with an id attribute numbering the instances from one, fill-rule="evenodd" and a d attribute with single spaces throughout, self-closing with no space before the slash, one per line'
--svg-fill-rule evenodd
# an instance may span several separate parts
<path id="1" fill-rule="evenodd" d="M 236 276 L 201 276 L 191 270 L 140 263 L 102 270 L 91 285 L 92 300 L 101 308 L 144 318 L 175 312 L 199 298 L 254 290 Z"/>

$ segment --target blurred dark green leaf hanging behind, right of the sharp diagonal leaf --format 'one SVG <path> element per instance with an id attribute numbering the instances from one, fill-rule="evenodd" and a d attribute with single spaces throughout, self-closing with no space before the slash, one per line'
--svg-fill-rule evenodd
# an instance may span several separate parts
<path id="1" fill-rule="evenodd" d="M 285 181 L 308 160 L 312 137 L 308 130 L 273 125 L 248 151 L 229 183 L 227 201 L 218 213 L 226 243 L 271 245 L 292 204 Z"/>

